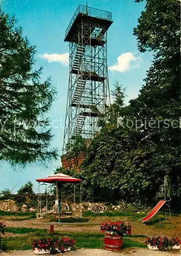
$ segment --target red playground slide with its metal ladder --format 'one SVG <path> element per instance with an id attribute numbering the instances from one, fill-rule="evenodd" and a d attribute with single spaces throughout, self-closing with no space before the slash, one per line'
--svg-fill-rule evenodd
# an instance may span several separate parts
<path id="1" fill-rule="evenodd" d="M 171 198 L 170 198 L 171 200 Z M 160 200 L 155 206 L 154 208 L 149 212 L 149 214 L 144 217 L 143 219 L 139 220 L 139 221 L 142 221 L 142 223 L 148 221 L 149 219 L 151 219 L 161 208 L 162 206 L 165 204 L 165 219 L 168 220 L 168 216 L 170 218 L 170 221 L 171 221 L 171 211 L 170 211 L 170 200 L 166 200 L 163 199 L 163 200 Z M 138 221 L 138 222 L 139 222 Z"/>

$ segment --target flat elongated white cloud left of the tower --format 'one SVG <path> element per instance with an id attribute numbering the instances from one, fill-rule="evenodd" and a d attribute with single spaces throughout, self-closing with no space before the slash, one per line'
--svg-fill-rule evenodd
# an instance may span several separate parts
<path id="1" fill-rule="evenodd" d="M 63 54 L 58 54 L 58 53 L 53 53 L 53 54 L 48 54 L 44 53 L 42 55 L 38 54 L 38 57 L 47 59 L 49 62 L 54 62 L 58 61 L 62 63 L 63 65 L 69 65 L 69 53 L 63 53 Z"/>

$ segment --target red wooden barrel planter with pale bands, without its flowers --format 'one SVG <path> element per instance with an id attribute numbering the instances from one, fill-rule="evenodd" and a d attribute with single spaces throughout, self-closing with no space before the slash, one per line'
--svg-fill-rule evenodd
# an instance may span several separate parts
<path id="1" fill-rule="evenodd" d="M 106 250 L 119 251 L 123 247 L 123 236 L 106 232 L 104 237 L 104 248 Z"/>

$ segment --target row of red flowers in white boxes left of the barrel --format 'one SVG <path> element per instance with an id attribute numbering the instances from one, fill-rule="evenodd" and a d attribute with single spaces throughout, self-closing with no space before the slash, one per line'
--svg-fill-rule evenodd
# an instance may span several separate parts
<path id="1" fill-rule="evenodd" d="M 70 251 L 75 244 L 75 240 L 68 237 L 50 238 L 33 241 L 32 248 L 35 254 L 54 254 L 55 252 Z"/>

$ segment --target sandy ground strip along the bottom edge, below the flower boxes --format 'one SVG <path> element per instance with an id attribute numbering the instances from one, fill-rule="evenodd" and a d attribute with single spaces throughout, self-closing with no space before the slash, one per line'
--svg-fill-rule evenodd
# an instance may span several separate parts
<path id="1" fill-rule="evenodd" d="M 65 253 L 58 253 L 56 255 L 64 255 L 64 256 L 120 256 L 120 255 L 132 255 L 132 256 L 176 256 L 180 255 L 179 252 L 163 252 L 163 251 L 152 251 L 148 249 L 132 249 L 129 252 L 112 252 L 108 250 L 102 250 L 102 249 L 78 249 L 76 251 L 70 251 L 70 252 L 65 252 Z M 2 256 L 33 256 L 35 255 L 32 250 L 18 250 L 18 251 L 9 251 L 7 253 L 2 253 Z M 43 254 L 46 255 L 46 254 Z M 50 255 L 50 254 L 47 254 Z"/>

